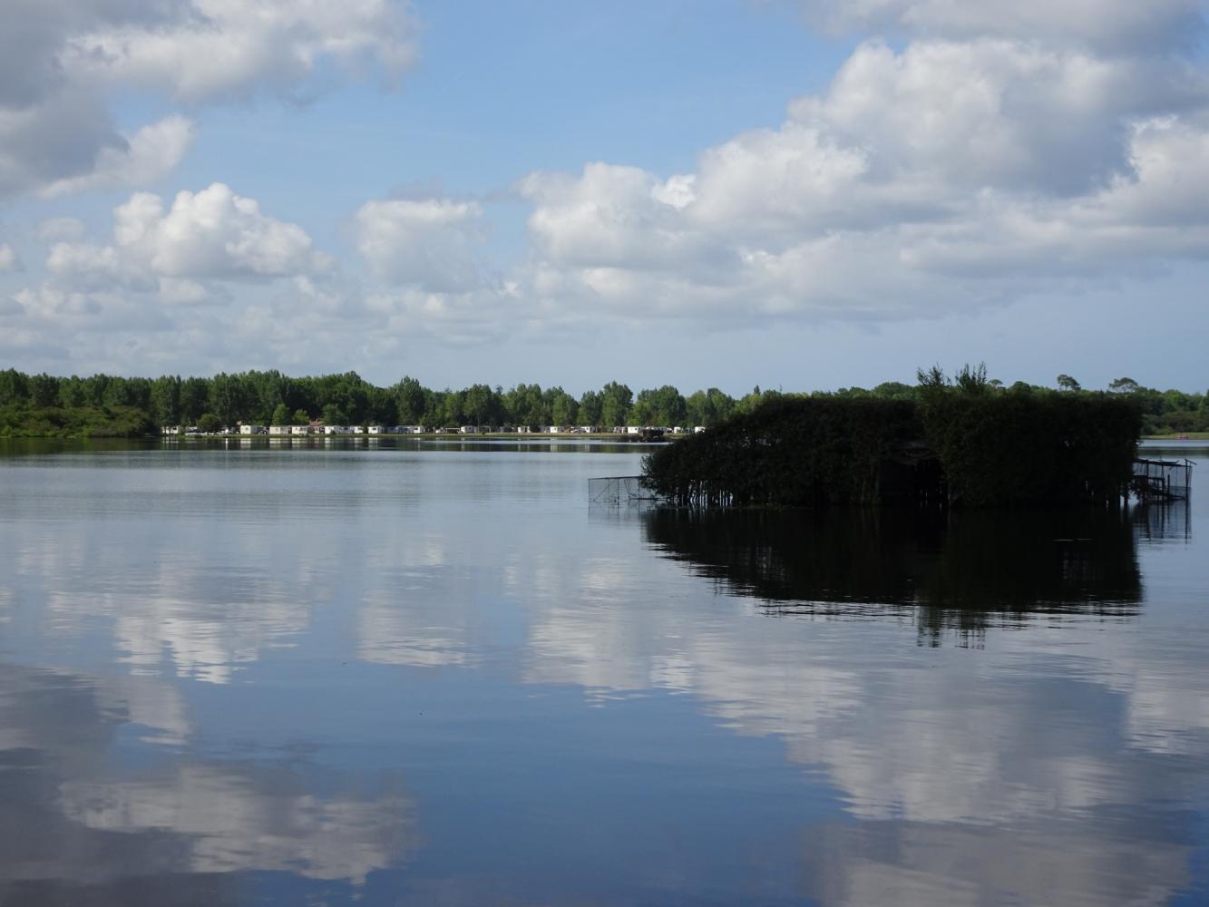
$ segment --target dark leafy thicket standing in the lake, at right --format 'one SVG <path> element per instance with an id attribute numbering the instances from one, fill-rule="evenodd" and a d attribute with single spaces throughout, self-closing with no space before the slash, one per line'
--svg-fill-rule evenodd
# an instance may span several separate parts
<path id="1" fill-rule="evenodd" d="M 1003 388 L 984 366 L 918 377 L 910 395 L 769 400 L 652 454 L 644 480 L 681 504 L 985 507 L 1110 501 L 1129 479 L 1141 431 L 1130 394 Z"/>

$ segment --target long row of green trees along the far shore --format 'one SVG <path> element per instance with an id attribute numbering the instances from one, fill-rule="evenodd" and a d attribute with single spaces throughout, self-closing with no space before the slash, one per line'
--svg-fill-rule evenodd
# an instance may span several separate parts
<path id="1" fill-rule="evenodd" d="M 939 371 L 938 369 L 936 371 Z M 943 372 L 942 372 L 943 376 Z M 872 389 L 840 388 L 838 398 L 915 400 L 932 370 L 915 385 L 890 381 Z M 959 372 L 960 382 L 980 381 L 988 391 L 1016 393 L 1088 393 L 1069 375 L 1058 377 L 1059 391 L 982 375 Z M 1152 434 L 1209 431 L 1209 398 L 1201 393 L 1157 391 L 1133 379 L 1117 379 L 1110 393 L 1134 401 Z M 731 416 L 752 412 L 763 403 L 783 397 L 780 391 L 756 387 L 742 397 L 711 387 L 682 394 L 664 385 L 634 393 L 611 381 L 578 398 L 554 386 L 520 383 L 470 385 L 461 391 L 433 389 L 413 377 L 389 387 L 377 387 L 357 372 L 289 377 L 279 371 L 242 371 L 213 377 L 157 379 L 92 375 L 56 377 L 27 375 L 15 369 L 0 371 L 0 434 L 96 434 L 135 435 L 161 426 L 189 424 L 203 429 L 255 424 L 299 424 L 322 420 L 328 424 L 464 424 L 550 426 L 582 424 L 611 429 L 614 426 L 716 426 Z"/>

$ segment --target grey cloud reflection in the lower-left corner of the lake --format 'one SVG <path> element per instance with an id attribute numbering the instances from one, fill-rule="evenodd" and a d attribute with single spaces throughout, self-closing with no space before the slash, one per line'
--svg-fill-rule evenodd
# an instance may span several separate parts
<path id="1" fill-rule="evenodd" d="M 358 790 L 369 781 L 360 778 L 346 792 L 349 779 L 296 761 L 183 749 L 192 728 L 162 682 L 0 665 L 0 901 L 6 885 L 34 899 L 25 902 L 105 901 L 99 892 L 117 880 L 180 873 L 285 871 L 363 884 L 418 843 L 398 778 Z M 129 724 L 160 732 L 156 743 L 172 749 L 115 759 Z"/>

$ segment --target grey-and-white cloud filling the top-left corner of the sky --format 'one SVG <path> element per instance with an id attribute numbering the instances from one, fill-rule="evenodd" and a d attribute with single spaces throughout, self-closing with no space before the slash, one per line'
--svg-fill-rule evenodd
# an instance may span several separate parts
<path id="1" fill-rule="evenodd" d="M 397 0 L 13 0 L 0 33 L 0 197 L 144 186 L 189 150 L 168 116 L 126 132 L 109 92 L 184 104 L 306 91 L 323 60 L 389 82 L 416 58 Z"/>

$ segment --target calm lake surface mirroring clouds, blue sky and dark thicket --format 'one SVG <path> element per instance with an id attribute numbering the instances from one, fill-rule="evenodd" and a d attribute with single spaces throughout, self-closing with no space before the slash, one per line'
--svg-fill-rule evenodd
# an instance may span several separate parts
<path id="1" fill-rule="evenodd" d="M 0 903 L 1209 902 L 1188 452 L 1191 507 L 942 520 L 0 446 Z"/>

